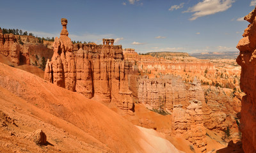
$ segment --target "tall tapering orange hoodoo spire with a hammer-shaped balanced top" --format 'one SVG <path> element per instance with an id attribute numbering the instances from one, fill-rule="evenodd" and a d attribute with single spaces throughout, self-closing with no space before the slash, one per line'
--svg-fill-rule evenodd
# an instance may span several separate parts
<path id="1" fill-rule="evenodd" d="M 63 29 L 60 38 L 56 37 L 53 43 L 54 54 L 51 62 L 47 61 L 47 66 L 50 68 L 45 68 L 45 79 L 52 78 L 49 81 L 53 84 L 76 91 L 76 64 L 72 41 L 68 38 L 67 19 L 62 18 L 61 25 Z"/>

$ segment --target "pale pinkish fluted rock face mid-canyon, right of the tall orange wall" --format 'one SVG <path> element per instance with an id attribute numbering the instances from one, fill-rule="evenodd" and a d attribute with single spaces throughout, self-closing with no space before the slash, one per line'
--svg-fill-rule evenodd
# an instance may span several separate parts
<path id="1" fill-rule="evenodd" d="M 161 78 L 143 77 L 138 80 L 139 103 L 172 111 L 174 105 L 184 104 L 186 100 L 186 85 L 180 77 L 167 75 Z"/>

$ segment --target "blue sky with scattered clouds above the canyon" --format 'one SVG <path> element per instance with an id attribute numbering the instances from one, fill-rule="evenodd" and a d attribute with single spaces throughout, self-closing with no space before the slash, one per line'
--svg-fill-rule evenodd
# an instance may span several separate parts
<path id="1" fill-rule="evenodd" d="M 238 51 L 256 0 L 0 0 L 0 27 L 72 41 L 115 39 L 136 52 Z"/>

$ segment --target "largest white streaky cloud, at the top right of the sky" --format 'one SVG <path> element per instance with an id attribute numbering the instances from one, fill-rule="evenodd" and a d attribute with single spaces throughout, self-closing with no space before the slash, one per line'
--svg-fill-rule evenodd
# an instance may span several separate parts
<path id="1" fill-rule="evenodd" d="M 204 17 L 206 15 L 213 15 L 221 11 L 226 11 L 234 2 L 234 0 L 204 0 L 197 3 L 195 6 L 188 8 L 184 13 L 194 12 L 192 15 L 193 17 L 189 18 L 189 20 L 196 20 L 198 17 Z"/>

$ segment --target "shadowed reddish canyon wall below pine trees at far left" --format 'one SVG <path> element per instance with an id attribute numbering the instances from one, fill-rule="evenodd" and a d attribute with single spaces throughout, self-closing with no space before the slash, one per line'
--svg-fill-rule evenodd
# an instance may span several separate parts
<path id="1" fill-rule="evenodd" d="M 44 41 L 47 42 L 49 43 Z M 51 58 L 53 51 L 51 46 L 38 43 L 38 38 L 35 36 L 3 34 L 0 29 L 0 54 L 7 57 L 8 61 L 1 60 L 6 64 L 11 62 L 10 65 L 13 66 L 26 64 L 42 68 L 45 64 L 44 59 L 46 62 L 46 59 Z"/>

